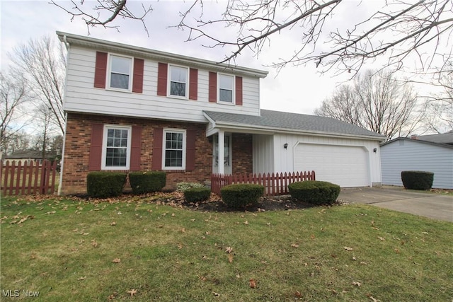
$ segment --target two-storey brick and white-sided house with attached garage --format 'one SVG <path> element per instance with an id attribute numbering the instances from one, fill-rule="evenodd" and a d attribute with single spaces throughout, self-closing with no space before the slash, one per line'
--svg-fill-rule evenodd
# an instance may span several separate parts
<path id="1" fill-rule="evenodd" d="M 343 187 L 382 182 L 385 137 L 328 117 L 261 110 L 267 71 L 57 35 L 68 48 L 63 194 L 86 192 L 96 170 L 164 170 L 168 188 L 212 173 L 304 170 Z"/>

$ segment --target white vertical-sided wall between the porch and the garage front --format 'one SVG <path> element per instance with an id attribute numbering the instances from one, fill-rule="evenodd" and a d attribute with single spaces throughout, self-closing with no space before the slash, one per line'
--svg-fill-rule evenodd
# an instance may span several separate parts
<path id="1" fill-rule="evenodd" d="M 280 172 L 274 170 L 273 141 L 272 135 L 253 134 L 253 173 Z"/>

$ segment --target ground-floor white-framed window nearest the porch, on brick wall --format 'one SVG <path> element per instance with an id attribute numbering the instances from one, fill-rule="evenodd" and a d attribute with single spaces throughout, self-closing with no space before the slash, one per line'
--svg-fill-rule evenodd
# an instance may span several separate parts
<path id="1" fill-rule="evenodd" d="M 164 129 L 162 167 L 164 170 L 185 169 L 185 130 Z"/>

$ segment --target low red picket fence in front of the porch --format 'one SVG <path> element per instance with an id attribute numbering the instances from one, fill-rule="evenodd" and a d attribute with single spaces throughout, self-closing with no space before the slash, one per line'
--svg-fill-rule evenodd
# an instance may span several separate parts
<path id="1" fill-rule="evenodd" d="M 297 173 L 268 173 L 261 174 L 212 174 L 211 175 L 211 192 L 220 194 L 220 189 L 225 185 L 237 183 L 253 183 L 263 185 L 264 196 L 277 196 L 289 194 L 288 185 L 292 182 L 316 180 L 314 171 L 297 172 Z"/>

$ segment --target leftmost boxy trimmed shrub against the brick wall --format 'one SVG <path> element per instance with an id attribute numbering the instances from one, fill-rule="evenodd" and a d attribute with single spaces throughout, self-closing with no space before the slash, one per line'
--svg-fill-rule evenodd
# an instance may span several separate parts
<path id="1" fill-rule="evenodd" d="M 86 192 L 89 197 L 106 198 L 118 196 L 126 183 L 126 173 L 91 172 L 86 176 Z"/>

